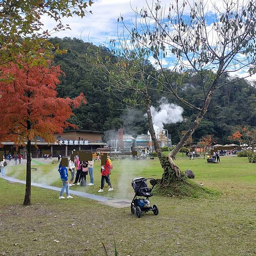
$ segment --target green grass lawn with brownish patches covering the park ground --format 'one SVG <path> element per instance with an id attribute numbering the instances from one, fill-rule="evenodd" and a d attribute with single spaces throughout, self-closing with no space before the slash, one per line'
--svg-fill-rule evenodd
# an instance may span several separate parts
<path id="1" fill-rule="evenodd" d="M 130 198 L 133 177 L 158 178 L 162 173 L 157 160 L 112 163 L 114 191 L 101 194 L 109 197 Z M 35 187 L 32 205 L 23 207 L 25 186 L 0 179 L 0 255 L 103 256 L 101 241 L 109 255 L 114 255 L 113 237 L 119 256 L 256 255 L 256 165 L 247 163 L 245 157 L 222 157 L 220 164 L 207 164 L 204 159 L 179 156 L 176 163 L 183 171 L 192 169 L 195 182 L 218 189 L 222 195 L 198 199 L 154 196 L 150 201 L 158 205 L 159 215 L 149 212 L 139 219 L 129 208 L 111 208 L 79 197 L 60 201 L 57 192 Z M 36 167 L 34 182 L 61 186 L 57 165 Z M 6 174 L 24 180 L 25 166 L 8 167 Z M 96 194 L 99 163 L 94 174 L 94 187 L 72 189 Z"/>

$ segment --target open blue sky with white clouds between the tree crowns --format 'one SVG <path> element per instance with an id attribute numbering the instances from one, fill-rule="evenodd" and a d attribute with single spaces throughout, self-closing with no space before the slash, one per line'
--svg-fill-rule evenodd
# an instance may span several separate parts
<path id="1" fill-rule="evenodd" d="M 192 0 L 188 1 L 192 3 Z M 88 13 L 83 19 L 77 16 L 63 18 L 62 22 L 69 24 L 71 30 L 56 32 L 52 36 L 81 38 L 84 41 L 108 47 L 110 39 L 117 38 L 117 18 L 122 16 L 125 23 L 131 26 L 131 22 L 135 17 L 132 9 L 137 8 L 140 10 L 147 5 L 146 0 L 94 0 L 93 2 L 92 7 L 88 7 L 92 14 Z M 172 0 L 161 0 L 160 2 L 162 7 L 166 6 L 169 9 Z M 148 3 L 151 4 L 152 0 L 148 0 Z M 219 9 L 224 9 L 222 0 L 215 0 L 214 3 Z M 213 7 L 209 6 L 209 17 L 213 11 Z M 189 13 L 189 8 L 187 7 L 186 12 Z M 49 19 L 47 16 L 42 17 L 42 22 L 45 24 L 44 28 L 48 29 L 48 31 L 55 26 L 54 20 Z M 153 57 L 150 57 L 149 60 L 152 63 L 154 62 Z M 164 59 L 164 61 L 166 65 L 169 62 L 168 59 Z M 244 76 L 245 74 L 240 72 L 237 75 Z M 250 79 L 256 79 L 256 75 Z"/>

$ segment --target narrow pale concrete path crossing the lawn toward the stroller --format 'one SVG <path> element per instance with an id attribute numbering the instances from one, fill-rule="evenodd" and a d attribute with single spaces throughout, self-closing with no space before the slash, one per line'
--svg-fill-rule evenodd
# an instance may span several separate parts
<path id="1" fill-rule="evenodd" d="M 1 178 L 5 179 L 11 183 L 26 184 L 26 182 L 24 180 L 18 180 L 13 177 L 9 177 L 9 176 L 5 176 L 5 177 L 1 177 Z M 31 185 L 40 187 L 43 189 L 51 189 L 51 190 L 55 190 L 55 191 L 61 191 L 61 188 L 55 187 L 55 186 L 49 186 L 49 185 L 44 185 L 44 184 L 39 184 L 39 183 L 34 183 L 34 182 L 32 182 Z M 131 206 L 131 202 L 127 198 L 114 199 L 114 198 L 108 198 L 108 197 L 101 196 L 101 195 L 94 195 L 94 194 L 89 194 L 89 193 L 85 193 L 85 192 L 81 192 L 81 191 L 76 191 L 76 190 L 72 190 L 72 189 L 70 189 L 69 191 L 70 191 L 71 195 L 77 195 L 77 196 L 81 196 L 83 198 L 89 198 L 89 199 L 98 201 L 100 204 L 105 204 L 105 205 L 115 207 L 115 208 L 123 208 L 123 207 Z M 56 197 L 57 197 L 57 195 L 56 195 Z"/>

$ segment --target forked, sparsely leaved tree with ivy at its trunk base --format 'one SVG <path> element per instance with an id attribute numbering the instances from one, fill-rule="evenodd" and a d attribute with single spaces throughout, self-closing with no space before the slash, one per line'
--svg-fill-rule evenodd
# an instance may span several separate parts
<path id="1" fill-rule="evenodd" d="M 149 131 L 164 169 L 161 185 L 169 186 L 174 180 L 184 181 L 173 158 L 204 118 L 215 90 L 233 83 L 231 79 L 221 83 L 221 77 L 243 72 L 244 77 L 236 79 L 239 81 L 256 72 L 256 4 L 251 0 L 243 3 L 224 0 L 223 6 L 210 6 L 197 0 L 190 5 L 177 0 L 166 9 L 157 0 L 151 5 L 146 2 L 146 5 L 140 12 L 134 10 L 136 17 L 132 29 L 123 17 L 118 19 L 122 30 L 116 41 L 111 40 L 115 59 L 106 56 L 102 61 L 98 52 L 94 56 L 95 67 L 97 72 L 103 73 L 108 89 L 119 92 L 118 97 L 124 105 L 145 104 Z M 148 65 L 152 58 L 154 68 Z M 180 96 L 183 77 L 189 70 L 201 78 L 203 97 L 198 105 Z M 167 157 L 161 157 L 157 144 L 150 111 L 150 90 L 175 96 L 197 114 Z"/>

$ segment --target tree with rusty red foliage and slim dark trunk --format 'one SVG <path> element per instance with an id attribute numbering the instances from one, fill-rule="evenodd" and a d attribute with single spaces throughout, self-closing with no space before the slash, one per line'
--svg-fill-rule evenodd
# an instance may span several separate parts
<path id="1" fill-rule="evenodd" d="M 31 66 L 10 63 L 0 67 L 0 141 L 27 143 L 26 192 L 24 205 L 31 199 L 31 140 L 42 137 L 55 141 L 54 133 L 62 133 L 70 124 L 71 108 L 86 103 L 81 93 L 75 99 L 59 98 L 55 91 L 58 77 L 64 74 L 59 66 Z M 72 126 L 72 125 L 71 125 Z"/>

